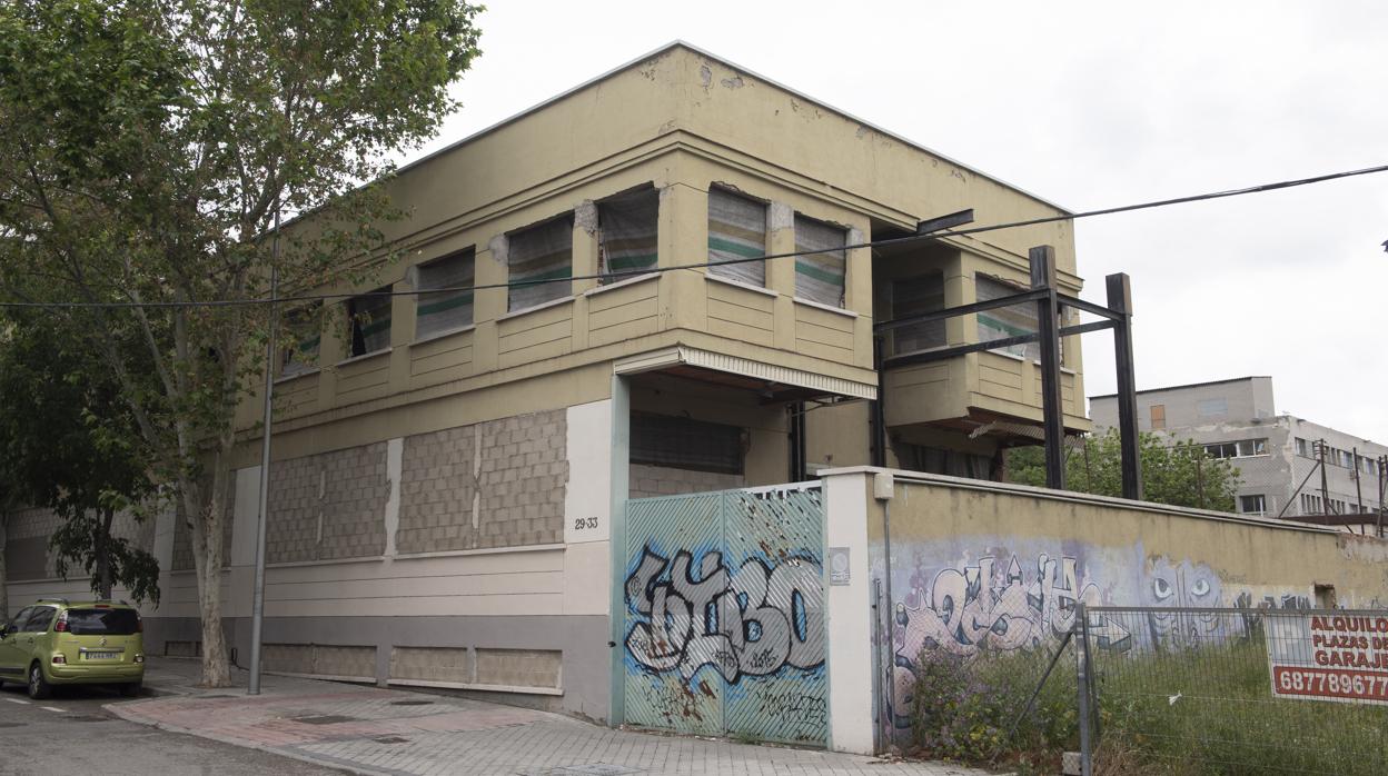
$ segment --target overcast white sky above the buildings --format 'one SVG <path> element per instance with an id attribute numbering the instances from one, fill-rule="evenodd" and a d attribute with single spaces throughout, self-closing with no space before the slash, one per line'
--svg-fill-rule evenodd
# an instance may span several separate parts
<path id="1" fill-rule="evenodd" d="M 1382 0 L 487 4 L 425 151 L 684 39 L 1074 211 L 1388 164 Z M 1280 412 L 1388 443 L 1388 174 L 1076 235 L 1081 296 L 1133 276 L 1138 389 L 1271 375 Z M 1084 360 L 1112 393 L 1112 339 Z"/>

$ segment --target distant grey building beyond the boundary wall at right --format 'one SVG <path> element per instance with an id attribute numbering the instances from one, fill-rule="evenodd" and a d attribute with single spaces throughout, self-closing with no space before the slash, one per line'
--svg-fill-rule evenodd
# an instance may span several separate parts
<path id="1" fill-rule="evenodd" d="M 1388 446 L 1278 414 L 1269 376 L 1141 390 L 1137 407 L 1138 430 L 1195 441 L 1230 459 L 1239 472 L 1239 512 L 1298 518 L 1381 507 L 1380 461 Z M 1097 432 L 1117 426 L 1113 394 L 1090 397 L 1090 411 Z M 1319 441 L 1326 444 L 1328 497 L 1316 471 Z"/>

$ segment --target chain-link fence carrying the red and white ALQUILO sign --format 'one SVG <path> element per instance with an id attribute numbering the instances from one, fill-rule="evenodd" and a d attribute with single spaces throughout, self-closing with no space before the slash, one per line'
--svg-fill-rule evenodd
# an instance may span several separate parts
<path id="1" fill-rule="evenodd" d="M 1077 625 L 1087 773 L 1388 773 L 1388 611 L 1092 607 Z"/>

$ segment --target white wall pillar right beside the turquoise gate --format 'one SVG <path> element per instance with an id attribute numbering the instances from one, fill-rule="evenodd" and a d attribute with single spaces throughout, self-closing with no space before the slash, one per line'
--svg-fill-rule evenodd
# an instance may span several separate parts
<path id="1" fill-rule="evenodd" d="M 827 475 L 824 483 L 826 577 L 838 548 L 848 551 L 847 584 L 829 584 L 829 748 L 873 752 L 872 573 L 867 562 L 869 472 Z M 830 579 L 826 579 L 829 583 Z"/>

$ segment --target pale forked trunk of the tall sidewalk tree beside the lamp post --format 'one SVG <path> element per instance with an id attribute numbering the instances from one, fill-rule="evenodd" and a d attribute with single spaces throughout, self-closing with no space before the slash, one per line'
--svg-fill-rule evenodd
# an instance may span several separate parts
<path id="1" fill-rule="evenodd" d="M 193 566 L 197 575 L 197 605 L 203 626 L 203 687 L 230 687 L 226 634 L 222 630 L 222 511 L 226 475 L 225 458 L 217 457 L 212 494 L 203 504 L 201 489 L 193 478 L 182 476 L 183 498 L 178 519 L 185 521 L 193 536 Z"/>

